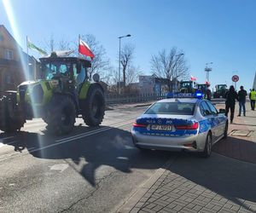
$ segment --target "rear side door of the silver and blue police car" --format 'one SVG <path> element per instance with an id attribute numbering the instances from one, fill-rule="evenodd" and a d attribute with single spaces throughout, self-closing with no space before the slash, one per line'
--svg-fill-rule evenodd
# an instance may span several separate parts
<path id="1" fill-rule="evenodd" d="M 216 141 L 217 139 L 217 126 L 214 124 L 214 115 L 211 112 L 211 108 L 207 105 L 206 101 L 201 101 L 201 114 L 204 118 L 207 119 L 207 123 L 210 126 L 209 130 L 212 131 L 212 141 Z"/>

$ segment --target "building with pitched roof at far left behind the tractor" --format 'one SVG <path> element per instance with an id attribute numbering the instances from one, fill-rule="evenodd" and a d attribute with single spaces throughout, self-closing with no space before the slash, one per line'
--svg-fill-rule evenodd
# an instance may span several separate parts
<path id="1" fill-rule="evenodd" d="M 21 59 L 26 67 L 22 67 Z M 40 75 L 36 72 L 39 70 L 38 60 L 26 55 L 5 26 L 0 25 L 0 93 L 16 90 L 17 86 L 26 80 L 26 76 L 33 79 Z"/>

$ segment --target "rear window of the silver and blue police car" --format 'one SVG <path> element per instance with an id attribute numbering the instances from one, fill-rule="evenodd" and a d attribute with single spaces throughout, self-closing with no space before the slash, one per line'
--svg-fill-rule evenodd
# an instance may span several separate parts
<path id="1" fill-rule="evenodd" d="M 195 103 L 157 102 L 145 114 L 193 115 L 194 112 Z"/>

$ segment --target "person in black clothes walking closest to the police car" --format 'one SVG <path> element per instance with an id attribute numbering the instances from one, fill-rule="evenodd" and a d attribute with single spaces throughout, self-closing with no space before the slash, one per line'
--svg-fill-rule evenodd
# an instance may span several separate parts
<path id="1" fill-rule="evenodd" d="M 226 105 L 225 116 L 228 117 L 228 114 L 230 111 L 230 124 L 232 124 L 233 119 L 234 119 L 236 100 L 238 101 L 238 96 L 237 96 L 234 86 L 232 86 L 232 85 L 230 86 L 230 89 L 225 93 L 224 98 L 226 99 L 226 101 L 225 101 L 225 105 Z"/>

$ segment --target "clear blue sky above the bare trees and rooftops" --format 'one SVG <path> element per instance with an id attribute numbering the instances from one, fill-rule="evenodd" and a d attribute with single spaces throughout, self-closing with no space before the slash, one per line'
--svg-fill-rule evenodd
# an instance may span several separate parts
<path id="1" fill-rule="evenodd" d="M 206 63 L 212 62 L 210 83 L 232 84 L 236 74 L 250 89 L 256 70 L 256 1 L 254 0 L 9 0 L 11 25 L 0 0 L 3 24 L 26 50 L 26 36 L 39 47 L 55 40 L 75 41 L 93 34 L 118 66 L 119 36 L 136 46 L 134 65 L 151 74 L 150 59 L 161 49 L 182 49 L 190 75 L 206 82 Z M 15 27 L 14 27 L 15 26 Z M 14 30 L 14 28 L 16 30 Z M 38 57 L 37 53 L 31 55 Z"/>

